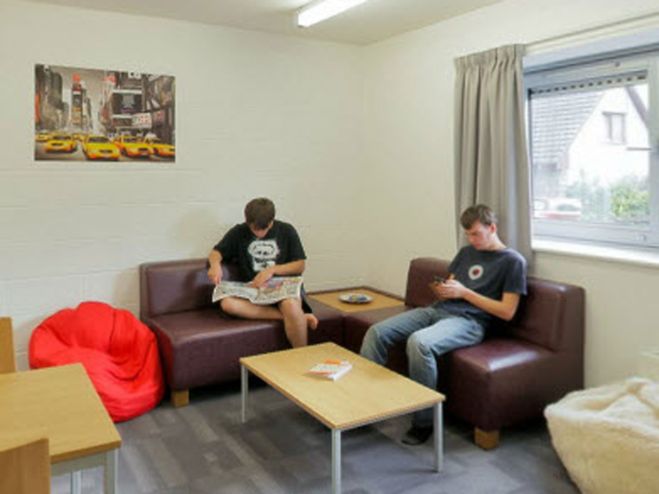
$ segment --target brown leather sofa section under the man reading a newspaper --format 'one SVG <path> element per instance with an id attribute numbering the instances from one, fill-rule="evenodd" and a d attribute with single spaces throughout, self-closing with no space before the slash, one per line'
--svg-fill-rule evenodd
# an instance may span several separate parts
<path id="1" fill-rule="evenodd" d="M 237 279 L 236 266 L 222 266 Z M 206 259 L 150 262 L 140 266 L 140 319 L 158 338 L 163 371 L 174 406 L 185 406 L 190 388 L 239 379 L 238 360 L 290 348 L 281 321 L 235 319 L 211 302 Z M 318 328 L 309 343 L 343 343 L 343 315 L 309 301 Z"/>

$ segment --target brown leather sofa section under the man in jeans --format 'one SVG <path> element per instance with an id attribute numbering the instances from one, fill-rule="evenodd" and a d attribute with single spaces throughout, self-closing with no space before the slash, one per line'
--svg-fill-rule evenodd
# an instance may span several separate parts
<path id="1" fill-rule="evenodd" d="M 428 284 L 446 275 L 447 265 L 434 258 L 411 261 L 405 305 L 346 315 L 345 346 L 358 352 L 370 325 L 432 303 Z M 513 321 L 501 321 L 480 344 L 438 360 L 447 412 L 474 425 L 480 447 L 496 447 L 501 427 L 541 417 L 547 404 L 583 388 L 583 340 L 583 288 L 529 277 Z M 405 346 L 389 352 L 387 365 L 407 372 Z"/>

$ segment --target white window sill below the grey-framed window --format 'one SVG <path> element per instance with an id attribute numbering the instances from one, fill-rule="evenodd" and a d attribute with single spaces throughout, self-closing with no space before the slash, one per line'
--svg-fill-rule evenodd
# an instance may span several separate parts
<path id="1" fill-rule="evenodd" d="M 535 252 L 552 254 L 563 254 L 573 257 L 588 257 L 602 261 L 625 262 L 627 264 L 638 264 L 659 268 L 659 251 L 645 249 L 623 249 L 622 247 L 604 247 L 602 245 L 590 245 L 585 243 L 574 243 L 555 239 L 538 239 L 532 241 L 532 249 Z"/>

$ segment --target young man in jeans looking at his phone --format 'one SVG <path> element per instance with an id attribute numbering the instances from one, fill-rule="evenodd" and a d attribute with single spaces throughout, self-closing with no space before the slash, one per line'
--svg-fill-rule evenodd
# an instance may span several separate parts
<path id="1" fill-rule="evenodd" d="M 470 245 L 451 261 L 448 278 L 431 284 L 438 301 L 374 324 L 360 352 L 384 365 L 389 348 L 407 340 L 409 376 L 432 389 L 437 387 L 437 357 L 479 343 L 496 319 L 513 319 L 527 292 L 526 261 L 499 238 L 494 212 L 484 204 L 471 206 L 460 223 Z M 432 412 L 422 410 L 414 414 L 403 443 L 418 445 L 431 434 Z"/>

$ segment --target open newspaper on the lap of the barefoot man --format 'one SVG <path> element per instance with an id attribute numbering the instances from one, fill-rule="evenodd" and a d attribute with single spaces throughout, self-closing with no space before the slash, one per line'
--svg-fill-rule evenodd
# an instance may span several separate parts
<path id="1" fill-rule="evenodd" d="M 299 299 L 302 276 L 273 276 L 264 286 L 241 282 L 221 282 L 213 290 L 213 301 L 241 297 L 257 305 L 270 305 L 283 299 Z"/>

